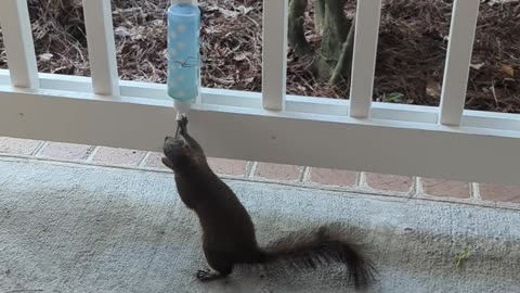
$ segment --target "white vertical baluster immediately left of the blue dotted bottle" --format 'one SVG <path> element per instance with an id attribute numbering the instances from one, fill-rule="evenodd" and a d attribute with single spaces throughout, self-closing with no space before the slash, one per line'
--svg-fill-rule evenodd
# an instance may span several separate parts
<path id="1" fill-rule="evenodd" d="M 102 95 L 119 95 L 110 0 L 83 0 L 92 88 Z"/>

